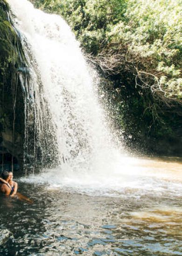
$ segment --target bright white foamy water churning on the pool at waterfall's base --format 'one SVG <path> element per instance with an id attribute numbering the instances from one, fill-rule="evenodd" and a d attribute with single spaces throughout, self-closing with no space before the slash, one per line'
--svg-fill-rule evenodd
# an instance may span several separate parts
<path id="1" fill-rule="evenodd" d="M 182 175 L 180 162 L 164 162 L 154 159 L 122 158 L 121 168 L 107 173 L 74 172 L 69 166 L 45 170 L 36 176 L 21 178 L 28 183 L 47 184 L 47 189 L 64 192 L 78 192 L 92 196 L 136 197 L 144 195 L 182 196 Z M 129 164 L 130 162 L 130 164 Z M 64 169 L 65 168 L 65 169 Z"/>

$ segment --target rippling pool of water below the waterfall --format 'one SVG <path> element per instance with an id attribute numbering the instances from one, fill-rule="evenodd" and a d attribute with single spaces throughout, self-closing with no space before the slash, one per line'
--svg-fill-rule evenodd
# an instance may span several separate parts
<path id="1" fill-rule="evenodd" d="M 181 159 L 140 165 L 120 189 L 18 178 L 33 203 L 0 197 L 0 229 L 12 233 L 0 255 L 182 255 Z"/>

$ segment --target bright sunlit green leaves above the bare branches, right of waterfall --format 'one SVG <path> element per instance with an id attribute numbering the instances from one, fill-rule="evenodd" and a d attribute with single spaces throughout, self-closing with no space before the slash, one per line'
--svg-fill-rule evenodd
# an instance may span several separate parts
<path id="1" fill-rule="evenodd" d="M 133 55 L 135 67 L 156 77 L 157 90 L 165 97 L 182 99 L 181 0 L 35 0 L 35 4 L 62 15 L 86 52 L 105 57 L 107 51 L 124 50 L 127 58 Z"/>

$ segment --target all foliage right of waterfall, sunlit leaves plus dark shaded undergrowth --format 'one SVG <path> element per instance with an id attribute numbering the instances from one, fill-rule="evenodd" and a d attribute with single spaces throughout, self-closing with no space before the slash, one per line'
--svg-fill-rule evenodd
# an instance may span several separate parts
<path id="1" fill-rule="evenodd" d="M 139 141 L 175 136 L 182 126 L 181 0 L 32 1 L 62 15 L 113 81 L 114 104 L 127 134 Z"/>

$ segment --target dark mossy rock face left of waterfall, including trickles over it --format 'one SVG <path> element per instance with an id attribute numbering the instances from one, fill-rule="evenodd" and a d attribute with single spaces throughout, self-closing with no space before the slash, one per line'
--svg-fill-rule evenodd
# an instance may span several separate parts
<path id="1" fill-rule="evenodd" d="M 0 171 L 3 169 L 57 164 L 51 117 L 42 95 L 42 81 L 28 42 L 14 27 L 5 0 L 0 0 Z M 25 55 L 28 57 L 26 58 Z M 36 73 L 39 93 L 32 86 L 30 69 Z M 43 126 L 36 118 L 34 101 L 44 109 Z M 39 134 L 39 128 L 44 132 Z M 50 147 L 51 145 L 51 147 Z"/>

